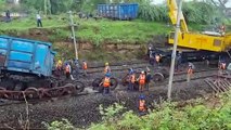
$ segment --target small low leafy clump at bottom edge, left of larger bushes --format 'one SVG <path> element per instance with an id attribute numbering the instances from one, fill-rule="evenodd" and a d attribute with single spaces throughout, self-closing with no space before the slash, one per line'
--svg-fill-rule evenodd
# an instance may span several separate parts
<path id="1" fill-rule="evenodd" d="M 51 125 L 42 122 L 48 130 L 73 130 L 74 126 L 67 120 L 62 119 L 61 121 L 52 121 Z"/>

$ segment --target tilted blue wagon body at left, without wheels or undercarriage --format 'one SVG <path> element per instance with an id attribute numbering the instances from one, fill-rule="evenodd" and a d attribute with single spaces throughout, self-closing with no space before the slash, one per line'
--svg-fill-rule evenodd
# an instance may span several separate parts
<path id="1" fill-rule="evenodd" d="M 0 69 L 49 77 L 54 52 L 51 43 L 0 36 Z"/>

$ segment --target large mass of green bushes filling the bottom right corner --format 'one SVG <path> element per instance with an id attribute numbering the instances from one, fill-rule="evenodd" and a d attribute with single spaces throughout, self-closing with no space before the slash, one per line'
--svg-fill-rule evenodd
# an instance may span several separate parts
<path id="1" fill-rule="evenodd" d="M 220 130 L 231 129 L 231 93 L 222 94 L 219 102 L 197 102 L 183 108 L 177 104 L 164 103 L 149 115 L 139 117 L 133 112 L 126 112 L 121 119 L 116 117 L 113 123 L 103 121 L 92 125 L 94 130 Z"/>

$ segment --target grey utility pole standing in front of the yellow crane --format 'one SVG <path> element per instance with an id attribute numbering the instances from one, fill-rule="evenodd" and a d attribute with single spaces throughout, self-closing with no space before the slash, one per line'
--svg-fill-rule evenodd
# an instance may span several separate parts
<path id="1" fill-rule="evenodd" d="M 178 13 L 177 13 L 177 26 L 175 30 L 175 41 L 174 41 L 174 50 L 171 53 L 171 66 L 170 66 L 169 82 L 168 82 L 168 100 L 171 99 L 171 87 L 172 87 L 174 72 L 175 72 L 175 60 L 176 60 L 176 52 L 177 52 L 177 44 L 178 44 L 178 34 L 180 30 L 181 6 L 182 6 L 182 0 L 179 0 Z"/>

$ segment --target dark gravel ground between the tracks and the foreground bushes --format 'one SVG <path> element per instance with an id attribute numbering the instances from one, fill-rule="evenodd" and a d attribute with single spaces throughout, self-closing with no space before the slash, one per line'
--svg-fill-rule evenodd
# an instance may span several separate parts
<path id="1" fill-rule="evenodd" d="M 152 87 L 152 91 L 145 92 L 149 103 L 159 101 L 159 98 L 166 99 L 167 87 Z M 172 99 L 175 101 L 184 101 L 211 93 L 203 80 L 194 80 L 188 83 L 175 83 L 172 89 Z M 112 95 L 105 96 L 100 93 L 88 95 L 65 96 L 59 100 L 29 104 L 30 128 L 42 128 L 44 122 L 53 120 L 68 119 L 76 127 L 88 127 L 92 122 L 100 122 L 101 116 L 99 105 L 108 106 L 115 102 L 125 102 L 128 109 L 137 110 L 136 104 L 139 92 L 114 91 Z M 9 105 L 0 107 L 0 126 L 5 125 L 18 127 L 20 115 L 25 118 L 25 104 Z"/>

